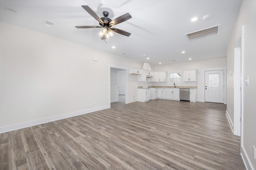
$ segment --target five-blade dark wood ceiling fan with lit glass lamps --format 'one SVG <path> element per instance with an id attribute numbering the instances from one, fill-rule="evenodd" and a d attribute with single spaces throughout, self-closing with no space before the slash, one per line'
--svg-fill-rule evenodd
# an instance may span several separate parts
<path id="1" fill-rule="evenodd" d="M 83 5 L 82 6 L 84 8 L 84 10 L 86 10 L 93 18 L 95 18 L 100 26 L 75 26 L 76 28 L 103 28 L 103 30 L 101 30 L 99 32 L 99 36 L 101 36 L 102 40 L 106 40 L 108 38 L 110 38 L 111 36 L 114 36 L 113 32 L 116 32 L 118 34 L 122 34 L 124 36 L 130 36 L 131 34 L 117 29 L 117 28 L 112 28 L 112 26 L 120 24 L 126 20 L 129 20 L 130 18 L 132 18 L 132 16 L 129 13 L 126 13 L 122 16 L 119 16 L 118 18 L 111 20 L 110 18 L 108 18 L 108 12 L 104 11 L 102 12 L 103 16 L 102 18 L 100 18 L 89 6 L 87 5 Z"/>

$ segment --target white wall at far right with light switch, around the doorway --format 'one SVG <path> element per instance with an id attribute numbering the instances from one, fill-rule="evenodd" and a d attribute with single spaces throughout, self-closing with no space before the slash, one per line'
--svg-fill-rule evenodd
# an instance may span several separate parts
<path id="1" fill-rule="evenodd" d="M 234 47 L 241 37 L 244 25 L 244 46 L 242 47 L 242 134 L 241 153 L 247 169 L 256 169 L 256 159 L 252 155 L 252 146 L 256 146 L 256 1 L 242 0 L 240 12 L 231 33 L 227 49 L 227 70 L 234 73 Z M 234 107 L 234 75 L 228 75 L 227 108 Z M 245 85 L 245 77 L 249 76 L 249 85 Z M 230 113 L 234 117 L 233 109 Z M 232 120 L 233 121 L 233 120 Z"/>

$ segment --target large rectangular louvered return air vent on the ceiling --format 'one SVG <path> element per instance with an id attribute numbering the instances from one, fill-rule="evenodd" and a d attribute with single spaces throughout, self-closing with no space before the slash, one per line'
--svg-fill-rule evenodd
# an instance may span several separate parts
<path id="1" fill-rule="evenodd" d="M 185 34 L 188 41 L 215 36 L 220 33 L 220 25 Z"/>

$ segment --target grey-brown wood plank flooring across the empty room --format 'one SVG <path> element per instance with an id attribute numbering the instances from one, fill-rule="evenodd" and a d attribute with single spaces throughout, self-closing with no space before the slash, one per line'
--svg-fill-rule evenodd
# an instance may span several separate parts
<path id="1" fill-rule="evenodd" d="M 226 105 L 150 100 L 0 134 L 0 169 L 244 170 Z"/>

